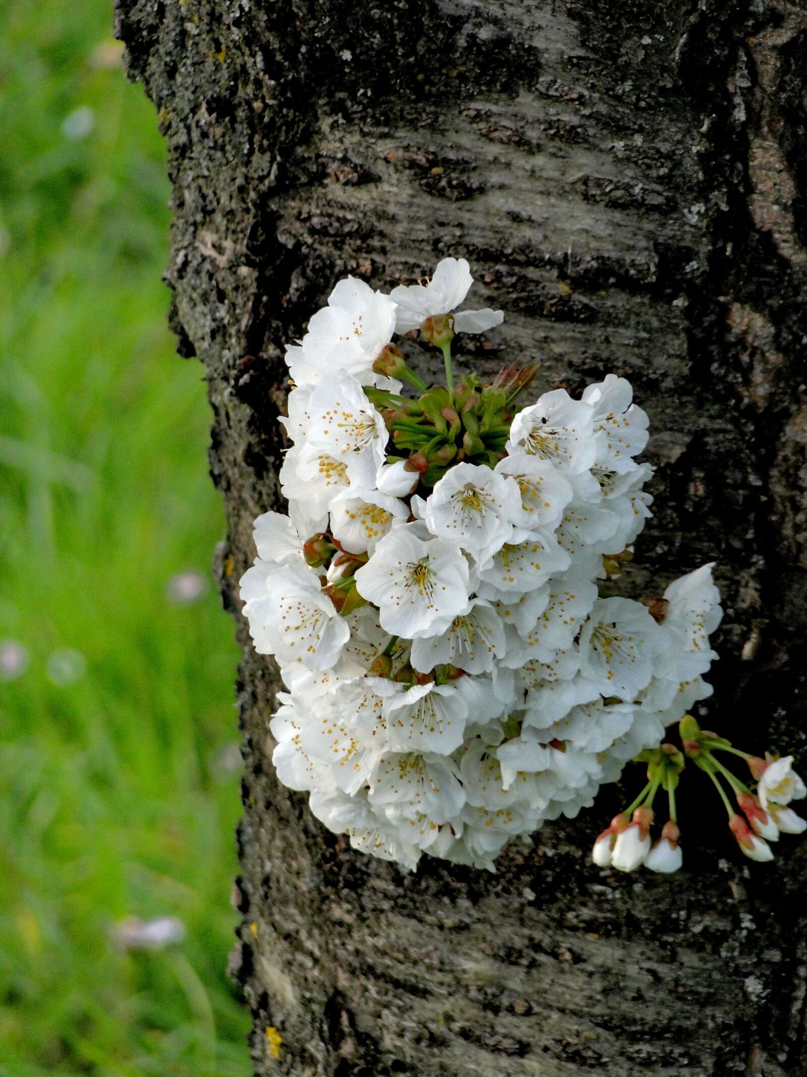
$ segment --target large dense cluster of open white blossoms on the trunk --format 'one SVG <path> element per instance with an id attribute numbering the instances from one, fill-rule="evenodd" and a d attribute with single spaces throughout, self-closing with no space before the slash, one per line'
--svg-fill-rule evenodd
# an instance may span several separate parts
<path id="1" fill-rule="evenodd" d="M 471 283 L 445 258 L 391 295 L 337 284 L 287 351 L 288 515 L 255 521 L 241 581 L 287 689 L 281 782 L 410 869 L 493 869 L 509 838 L 591 806 L 710 695 L 721 618 L 709 565 L 645 602 L 608 593 L 650 516 L 647 416 L 614 375 L 515 414 L 534 370 L 454 386 L 454 335 L 502 319 L 454 312 Z M 447 384 L 393 344 L 412 330 Z"/>

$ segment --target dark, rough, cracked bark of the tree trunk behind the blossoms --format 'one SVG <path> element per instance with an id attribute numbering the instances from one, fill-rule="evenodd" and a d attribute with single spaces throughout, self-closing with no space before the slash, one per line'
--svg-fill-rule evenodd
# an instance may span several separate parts
<path id="1" fill-rule="evenodd" d="M 717 561 L 707 725 L 804 747 L 807 8 L 118 0 L 117 31 L 168 139 L 172 325 L 204 364 L 229 520 L 257 1073 L 806 1074 L 804 844 L 750 872 L 693 792 L 691 870 L 600 872 L 609 792 L 496 876 L 405 878 L 278 785 L 275 674 L 237 581 L 279 504 L 284 344 L 345 272 L 392 285 L 465 255 L 507 314 L 475 363 L 537 356 L 542 389 L 632 378 L 659 473 L 627 586 Z"/>

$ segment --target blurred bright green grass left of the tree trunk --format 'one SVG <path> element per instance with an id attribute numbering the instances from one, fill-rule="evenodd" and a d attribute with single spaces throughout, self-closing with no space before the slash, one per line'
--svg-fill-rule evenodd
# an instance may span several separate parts
<path id="1" fill-rule="evenodd" d="M 110 27 L 108 0 L 0 8 L 0 640 L 30 658 L 0 681 L 0 1074 L 235 1077 L 237 653 L 212 586 L 167 597 L 223 518 L 165 327 L 164 146 Z M 158 914 L 183 942 L 111 945 Z"/>

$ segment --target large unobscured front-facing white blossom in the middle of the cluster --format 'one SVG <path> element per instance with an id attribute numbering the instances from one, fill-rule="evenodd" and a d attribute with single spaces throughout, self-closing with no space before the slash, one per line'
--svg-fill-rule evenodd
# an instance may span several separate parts
<path id="1" fill-rule="evenodd" d="M 356 572 L 359 595 L 379 607 L 381 626 L 415 640 L 439 635 L 468 605 L 468 563 L 455 546 L 424 541 L 405 524 L 376 546 Z"/>

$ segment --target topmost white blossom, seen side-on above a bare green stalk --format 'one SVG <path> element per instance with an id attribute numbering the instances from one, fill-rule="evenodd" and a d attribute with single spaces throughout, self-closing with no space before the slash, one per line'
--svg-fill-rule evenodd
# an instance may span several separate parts
<path id="1" fill-rule="evenodd" d="M 427 284 L 394 288 L 391 298 L 397 304 L 395 328 L 398 333 L 416 330 L 427 318 L 451 313 L 465 299 L 473 283 L 465 258 L 443 258 Z M 504 319 L 500 310 L 464 310 L 454 314 L 457 333 L 484 333 Z"/>

